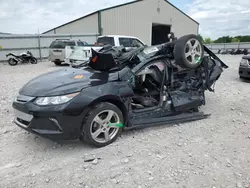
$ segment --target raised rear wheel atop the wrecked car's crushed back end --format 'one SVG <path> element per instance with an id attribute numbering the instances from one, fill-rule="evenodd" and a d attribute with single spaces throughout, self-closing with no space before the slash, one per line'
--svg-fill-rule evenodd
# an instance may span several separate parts
<path id="1" fill-rule="evenodd" d="M 197 35 L 185 35 L 174 46 L 175 63 L 182 68 L 197 68 L 204 57 L 204 47 Z"/>

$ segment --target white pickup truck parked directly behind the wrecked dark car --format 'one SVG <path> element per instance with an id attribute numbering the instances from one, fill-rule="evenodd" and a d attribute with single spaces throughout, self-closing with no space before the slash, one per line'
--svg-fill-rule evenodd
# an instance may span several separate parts
<path id="1" fill-rule="evenodd" d="M 139 48 L 145 46 L 145 44 L 138 38 L 132 36 L 122 35 L 107 35 L 97 38 L 96 44 L 93 46 L 76 46 L 74 48 L 70 46 L 65 47 L 65 60 L 66 64 L 75 63 L 75 61 L 85 61 L 91 57 L 91 48 L 98 51 L 104 45 L 111 46 L 124 46 L 126 49 Z"/>

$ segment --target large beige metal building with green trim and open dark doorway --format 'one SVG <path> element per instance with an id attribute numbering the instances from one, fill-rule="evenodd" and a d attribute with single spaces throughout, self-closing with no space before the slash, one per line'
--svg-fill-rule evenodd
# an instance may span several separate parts
<path id="1" fill-rule="evenodd" d="M 177 37 L 198 34 L 199 23 L 167 0 L 136 0 L 102 9 L 44 32 L 44 34 L 131 35 L 148 45 Z"/>

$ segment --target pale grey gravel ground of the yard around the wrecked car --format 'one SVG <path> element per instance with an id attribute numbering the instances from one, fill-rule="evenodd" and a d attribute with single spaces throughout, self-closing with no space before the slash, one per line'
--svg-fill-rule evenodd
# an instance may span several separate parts
<path id="1" fill-rule="evenodd" d="M 230 68 L 215 93 L 206 93 L 201 110 L 209 119 L 124 132 L 100 149 L 55 143 L 14 125 L 15 93 L 58 67 L 1 64 L 0 187 L 250 187 L 250 85 L 238 78 L 241 56 L 221 58 Z"/>

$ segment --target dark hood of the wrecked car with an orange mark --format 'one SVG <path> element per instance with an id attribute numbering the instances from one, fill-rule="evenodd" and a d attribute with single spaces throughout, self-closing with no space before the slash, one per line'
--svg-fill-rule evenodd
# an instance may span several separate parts
<path id="1" fill-rule="evenodd" d="M 32 79 L 21 88 L 19 93 L 33 97 L 64 95 L 118 80 L 118 78 L 118 73 L 65 68 Z"/>

